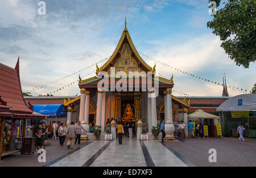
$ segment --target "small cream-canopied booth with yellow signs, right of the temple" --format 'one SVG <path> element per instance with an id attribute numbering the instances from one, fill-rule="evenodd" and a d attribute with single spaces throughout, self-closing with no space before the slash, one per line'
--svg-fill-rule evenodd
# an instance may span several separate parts
<path id="1" fill-rule="evenodd" d="M 203 125 L 205 137 L 221 136 L 221 132 L 219 130 L 220 129 L 219 119 L 220 117 L 207 113 L 201 109 L 198 109 L 196 110 L 196 112 L 193 112 L 188 115 L 188 120 L 191 120 L 194 124 L 194 132 L 195 132 L 195 126 L 197 124 L 201 123 Z"/>

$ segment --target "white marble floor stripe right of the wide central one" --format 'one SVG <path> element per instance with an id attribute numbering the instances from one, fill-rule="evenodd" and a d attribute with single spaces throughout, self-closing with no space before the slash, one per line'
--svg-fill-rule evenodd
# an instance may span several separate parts
<path id="1" fill-rule="evenodd" d="M 175 154 L 163 146 L 159 141 L 143 141 L 156 167 L 185 167 L 187 164 L 182 162 Z"/>

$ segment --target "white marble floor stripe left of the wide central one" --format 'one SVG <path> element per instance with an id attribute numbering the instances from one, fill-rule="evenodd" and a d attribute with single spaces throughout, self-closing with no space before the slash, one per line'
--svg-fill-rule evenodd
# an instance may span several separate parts
<path id="1" fill-rule="evenodd" d="M 51 166 L 56 167 L 71 167 L 77 166 L 81 167 L 88 159 L 90 159 L 102 146 L 109 141 L 94 141 L 89 145 L 86 145 L 82 149 L 68 155 L 67 157 L 59 160 L 58 162 L 52 164 Z"/>

